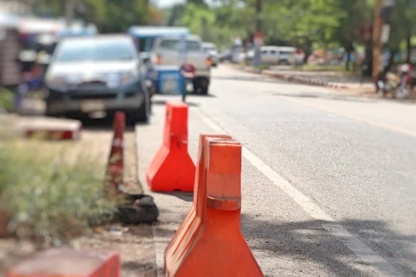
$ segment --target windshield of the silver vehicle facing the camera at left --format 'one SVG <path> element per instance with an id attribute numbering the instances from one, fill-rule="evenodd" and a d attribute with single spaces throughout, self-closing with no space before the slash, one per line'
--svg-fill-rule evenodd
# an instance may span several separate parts
<path id="1" fill-rule="evenodd" d="M 56 62 L 111 62 L 117 60 L 132 60 L 132 46 L 125 39 L 89 39 L 69 40 L 64 42 L 58 53 Z"/>

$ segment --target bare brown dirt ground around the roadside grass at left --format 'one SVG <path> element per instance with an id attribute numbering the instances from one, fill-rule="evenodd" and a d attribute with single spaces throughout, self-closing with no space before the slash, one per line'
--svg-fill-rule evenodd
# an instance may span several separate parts
<path id="1" fill-rule="evenodd" d="M 110 120 L 111 121 L 111 120 Z M 103 176 L 112 142 L 111 122 L 99 125 L 84 125 L 80 141 L 62 142 L 62 147 L 69 148 L 68 159 L 87 154 L 99 161 Z M 54 145 L 60 143 L 53 142 Z M 59 147 L 59 146 L 56 146 Z M 124 180 L 130 190 L 141 192 L 137 181 L 137 161 L 135 154 L 135 133 L 133 127 L 125 132 Z M 156 276 L 155 250 L 153 233 L 150 225 L 121 226 L 112 225 L 90 230 L 71 244 L 76 249 L 108 249 L 119 251 L 121 256 L 121 276 Z M 5 269 L 35 252 L 31 242 L 17 242 L 13 238 L 0 240 L 0 277 L 5 276 Z M 3 269 L 3 270 L 1 270 Z"/>

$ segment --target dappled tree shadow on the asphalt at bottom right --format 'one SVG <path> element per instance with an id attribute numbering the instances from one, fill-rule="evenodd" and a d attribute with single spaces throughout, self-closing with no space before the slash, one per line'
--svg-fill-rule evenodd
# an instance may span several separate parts
<path id="1" fill-rule="evenodd" d="M 261 216 L 261 215 L 257 215 Z M 287 264 L 285 260 L 302 265 L 308 263 L 315 267 L 324 267 L 333 272 L 331 276 L 365 276 L 356 266 L 359 266 L 361 260 L 345 247 L 340 240 L 335 238 L 322 228 L 322 222 L 310 220 L 304 222 L 287 222 L 276 224 L 275 222 L 261 220 L 246 214 L 242 215 L 241 229 L 245 235 L 248 244 L 252 250 L 258 250 L 262 256 L 272 256 L 275 263 L 275 276 L 280 272 L 279 260 L 282 261 L 283 267 Z M 413 276 L 415 272 L 410 269 L 412 261 L 416 260 L 415 253 L 406 251 L 406 246 L 410 249 L 410 242 L 415 242 L 415 235 L 397 235 L 384 222 L 372 220 L 345 220 L 338 222 L 342 226 L 359 226 L 361 237 L 367 236 L 372 241 L 385 243 L 386 246 L 395 245 L 396 249 L 401 249 L 401 253 L 392 253 L 388 258 L 396 260 L 406 260 L 401 265 L 407 268 L 405 271 Z M 377 245 L 371 245 L 377 251 Z M 296 265 L 295 265 L 296 266 Z M 300 266 L 302 267 L 302 266 Z M 305 269 L 308 267 L 305 266 Z M 270 269 L 270 268 L 269 268 Z M 306 272 L 304 271 L 304 274 Z M 306 276 L 312 276 L 306 274 Z M 303 276 L 303 274 L 301 274 Z"/>

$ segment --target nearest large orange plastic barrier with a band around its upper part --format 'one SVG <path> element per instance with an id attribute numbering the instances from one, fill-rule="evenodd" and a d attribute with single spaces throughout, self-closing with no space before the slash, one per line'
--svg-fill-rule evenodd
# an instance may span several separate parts
<path id="1" fill-rule="evenodd" d="M 167 277 L 264 276 L 241 233 L 241 144 L 200 137 L 196 191 L 165 251 Z"/>

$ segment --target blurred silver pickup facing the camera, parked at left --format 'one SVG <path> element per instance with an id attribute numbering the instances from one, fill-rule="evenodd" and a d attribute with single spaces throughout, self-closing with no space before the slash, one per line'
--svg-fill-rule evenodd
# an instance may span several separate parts
<path id="1" fill-rule="evenodd" d="M 45 75 L 46 114 L 68 116 L 125 111 L 150 118 L 150 95 L 130 35 L 65 38 Z"/>

